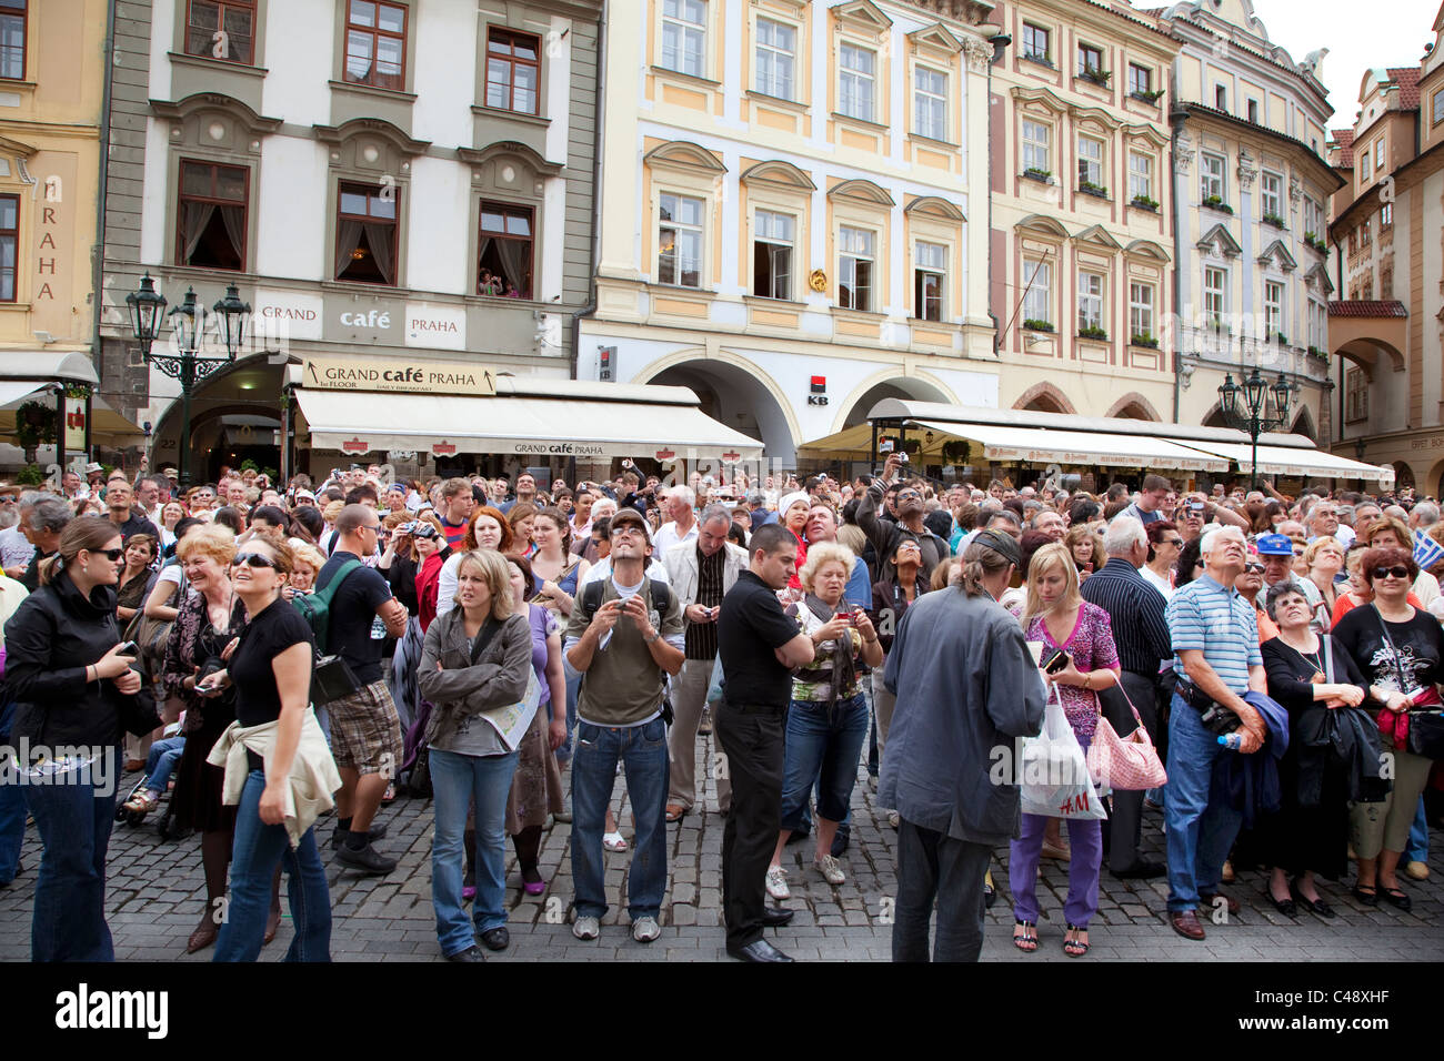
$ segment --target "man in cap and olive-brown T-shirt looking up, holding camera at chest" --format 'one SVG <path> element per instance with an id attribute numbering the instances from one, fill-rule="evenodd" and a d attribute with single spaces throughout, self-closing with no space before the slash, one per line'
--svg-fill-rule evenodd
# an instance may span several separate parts
<path id="1" fill-rule="evenodd" d="M 667 889 L 666 803 L 670 780 L 666 676 L 684 660 L 682 606 L 666 583 L 648 579 L 651 538 L 634 508 L 608 527 L 612 573 L 582 590 L 566 626 L 566 665 L 582 674 L 572 756 L 572 934 L 595 940 L 606 914 L 602 833 L 617 762 L 625 764 L 627 795 L 637 821 L 627 881 L 632 938 L 651 943 Z"/>

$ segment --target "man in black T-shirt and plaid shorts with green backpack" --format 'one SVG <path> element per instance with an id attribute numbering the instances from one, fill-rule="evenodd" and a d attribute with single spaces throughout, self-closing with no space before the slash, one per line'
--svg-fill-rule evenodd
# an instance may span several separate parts
<path id="1" fill-rule="evenodd" d="M 381 517 L 368 505 L 347 505 L 336 517 L 335 550 L 316 575 L 316 592 L 336 577 L 348 560 L 375 551 Z M 368 873 L 390 873 L 396 859 L 371 846 L 386 829 L 371 830 L 386 787 L 401 762 L 401 720 L 391 691 L 381 677 L 381 645 L 386 635 L 406 632 L 406 605 L 391 596 L 380 573 L 357 567 L 345 576 L 331 599 L 326 644 L 322 652 L 347 661 L 361 683 L 351 696 L 326 704 L 331 716 L 331 752 L 341 772 L 336 795 L 336 831 L 331 843 L 336 859 Z"/>

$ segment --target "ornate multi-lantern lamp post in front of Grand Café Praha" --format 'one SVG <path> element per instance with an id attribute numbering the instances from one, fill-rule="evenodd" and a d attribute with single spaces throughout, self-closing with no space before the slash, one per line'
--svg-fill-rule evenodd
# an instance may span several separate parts
<path id="1" fill-rule="evenodd" d="M 221 341 L 225 345 L 224 358 L 201 357 L 205 339 L 205 307 L 195 300 L 195 289 L 188 287 L 185 300 L 170 310 L 172 346 L 175 354 L 155 354 L 152 345 L 160 335 L 160 315 L 166 297 L 156 292 L 156 284 L 147 271 L 139 290 L 126 296 L 130 307 L 130 328 L 140 344 L 146 364 L 159 368 L 180 384 L 180 485 L 191 485 L 191 391 L 212 372 L 235 362 L 237 351 L 245 344 L 245 325 L 250 318 L 250 303 L 241 302 L 235 284 L 228 284 L 225 297 L 217 302 L 211 312 L 221 323 Z"/>

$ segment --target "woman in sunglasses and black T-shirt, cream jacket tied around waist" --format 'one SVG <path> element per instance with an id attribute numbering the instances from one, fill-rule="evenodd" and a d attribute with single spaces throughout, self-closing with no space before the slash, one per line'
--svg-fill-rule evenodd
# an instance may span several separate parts
<path id="1" fill-rule="evenodd" d="M 267 751 L 251 751 L 247 741 L 250 771 L 235 810 L 231 904 L 221 918 L 215 961 L 254 961 L 276 934 L 271 918 L 282 866 L 296 930 L 286 961 L 331 960 L 331 894 L 316 830 L 308 827 L 292 846 L 286 829 L 287 803 L 293 798 L 287 788 L 296 784 L 292 768 L 297 756 L 310 756 L 315 764 L 308 777 L 334 785 L 331 793 L 341 787 L 309 707 L 316 644 L 300 612 L 282 595 L 292 567 L 290 547 L 269 536 L 251 538 L 235 556 L 231 586 L 245 609 L 245 628 L 230 667 L 202 684 L 202 690 L 234 690 L 235 720 L 244 730 L 274 726 Z M 251 739 L 256 736 L 253 732 Z"/>

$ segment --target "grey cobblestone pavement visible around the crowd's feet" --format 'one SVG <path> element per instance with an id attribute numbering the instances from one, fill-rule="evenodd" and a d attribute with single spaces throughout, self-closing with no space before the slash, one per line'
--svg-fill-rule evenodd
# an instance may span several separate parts
<path id="1" fill-rule="evenodd" d="M 706 764 L 713 755 L 713 738 L 697 742 L 697 778 L 709 778 Z M 134 782 L 127 777 L 123 793 Z M 700 782 L 700 781 L 699 781 Z M 687 814 L 669 827 L 670 882 L 663 904 L 661 938 L 634 943 L 627 928 L 625 876 L 630 853 L 606 855 L 606 889 L 612 902 L 602 920 L 599 940 L 583 943 L 563 924 L 572 899 L 570 827 L 554 824 L 543 839 L 542 873 L 550 881 L 539 896 L 521 892 L 521 879 L 508 844 L 507 873 L 511 908 L 511 947 L 488 954 L 488 961 L 596 960 L 618 961 L 716 961 L 725 960 L 722 905 L 722 827 L 725 818 L 712 813 L 716 794 L 709 780 L 703 810 Z M 625 784 L 617 780 L 612 807 L 622 834 L 631 837 Z M 201 850 L 195 837 L 163 843 L 152 818 L 143 827 L 117 824 L 110 844 L 107 908 L 116 938 L 116 957 L 123 961 L 205 961 L 211 951 L 185 954 L 185 941 L 195 928 L 205 902 Z M 430 904 L 430 801 L 399 798 L 384 808 L 381 820 L 390 831 L 378 849 L 400 859 L 384 878 L 360 876 L 341 868 L 329 844 L 322 844 L 328 863 L 335 914 L 332 954 L 339 961 L 439 961 Z M 332 818 L 321 829 L 329 836 Z M 1161 817 L 1145 818 L 1149 857 L 1162 860 Z M 770 931 L 768 938 L 799 960 L 878 961 L 891 956 L 891 925 L 887 917 L 894 895 L 894 844 L 897 833 L 879 810 L 866 774 L 852 795 L 852 846 L 842 862 L 846 883 L 833 888 L 812 869 L 812 840 L 787 847 L 793 898 L 784 904 L 797 911 L 793 922 Z M 1414 898 L 1411 914 L 1380 905 L 1360 907 L 1350 895 L 1349 881 L 1321 882 L 1321 892 L 1339 912 L 1333 921 L 1313 914 L 1295 920 L 1279 915 L 1264 895 L 1265 875 L 1243 872 L 1229 886 L 1242 904 L 1227 924 L 1207 924 L 1209 938 L 1190 943 L 1167 922 L 1167 882 L 1119 881 L 1105 869 L 1099 911 L 1090 930 L 1090 960 L 1197 961 L 1396 961 L 1438 960 L 1444 956 L 1444 836 L 1432 837 L 1431 878 L 1406 881 Z M 25 872 L 0 891 L 0 960 L 25 961 L 30 951 L 30 911 L 35 870 L 39 863 L 35 827 L 26 833 L 22 862 Z M 1063 899 L 1067 895 L 1067 865 L 1043 862 L 1038 898 L 1043 905 L 1040 948 L 1022 954 L 1011 946 L 1012 909 L 1008 902 L 1006 850 L 993 862 L 999 898 L 988 911 L 985 960 L 1063 961 Z M 289 921 L 263 959 L 279 960 L 290 940 Z"/>

